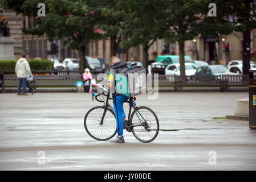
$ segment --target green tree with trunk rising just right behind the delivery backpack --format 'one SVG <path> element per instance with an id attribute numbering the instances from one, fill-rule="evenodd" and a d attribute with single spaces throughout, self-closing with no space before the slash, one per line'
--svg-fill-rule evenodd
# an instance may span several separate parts
<path id="1" fill-rule="evenodd" d="M 136 47 L 139 44 L 143 47 L 143 65 L 148 65 L 148 49 L 158 39 L 162 38 L 164 27 L 159 10 L 161 1 L 155 0 L 126 0 L 118 1 L 118 6 L 124 9 L 124 22 L 121 35 L 125 48 Z"/>

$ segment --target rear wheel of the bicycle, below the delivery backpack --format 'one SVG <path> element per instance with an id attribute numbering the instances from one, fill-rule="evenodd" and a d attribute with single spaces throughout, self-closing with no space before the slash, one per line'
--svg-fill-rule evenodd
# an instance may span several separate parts
<path id="1" fill-rule="evenodd" d="M 159 120 L 148 107 L 137 107 L 131 115 L 132 134 L 144 143 L 152 142 L 159 133 Z"/>

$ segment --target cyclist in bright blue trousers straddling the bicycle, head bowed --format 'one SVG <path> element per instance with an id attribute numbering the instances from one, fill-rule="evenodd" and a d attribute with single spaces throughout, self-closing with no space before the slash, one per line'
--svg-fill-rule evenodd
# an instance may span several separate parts
<path id="1" fill-rule="evenodd" d="M 117 69 L 127 65 L 127 63 L 121 63 L 120 59 L 116 56 L 111 57 L 111 68 Z M 111 71 L 108 76 L 108 88 L 115 86 L 115 77 Z M 126 122 L 125 113 L 124 113 L 124 102 L 127 101 L 129 97 L 123 96 L 118 93 L 113 93 L 113 107 L 115 109 L 116 115 L 116 125 L 117 125 L 117 136 L 112 139 L 111 142 L 123 143 L 123 130 L 124 130 L 124 122 Z"/>

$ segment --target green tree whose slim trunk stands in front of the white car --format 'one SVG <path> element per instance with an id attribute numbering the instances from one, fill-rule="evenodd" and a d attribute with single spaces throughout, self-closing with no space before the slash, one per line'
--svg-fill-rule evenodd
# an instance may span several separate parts
<path id="1" fill-rule="evenodd" d="M 184 43 L 186 40 L 192 40 L 200 32 L 208 3 L 202 0 L 168 0 L 164 1 L 164 5 L 161 13 L 165 19 L 165 40 L 178 42 L 180 75 L 185 76 Z"/>

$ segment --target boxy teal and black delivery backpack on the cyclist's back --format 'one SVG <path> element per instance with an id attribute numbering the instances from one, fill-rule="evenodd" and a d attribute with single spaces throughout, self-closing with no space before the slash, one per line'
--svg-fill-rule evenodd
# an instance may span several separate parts
<path id="1" fill-rule="evenodd" d="M 147 91 L 147 74 L 143 66 L 120 63 L 115 68 L 115 92 L 135 97 Z"/>

